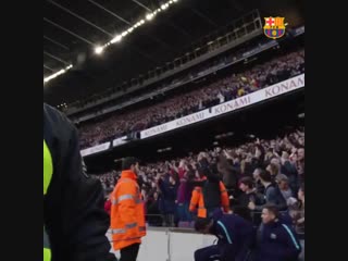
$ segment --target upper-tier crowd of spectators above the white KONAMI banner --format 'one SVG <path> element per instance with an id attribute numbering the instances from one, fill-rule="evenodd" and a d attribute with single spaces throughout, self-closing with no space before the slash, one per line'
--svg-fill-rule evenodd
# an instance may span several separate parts
<path id="1" fill-rule="evenodd" d="M 303 49 L 274 58 L 263 64 L 254 65 L 249 71 L 233 74 L 199 89 L 169 97 L 148 108 L 117 112 L 100 122 L 83 124 L 79 129 L 82 148 L 173 121 L 301 73 L 304 73 Z"/>

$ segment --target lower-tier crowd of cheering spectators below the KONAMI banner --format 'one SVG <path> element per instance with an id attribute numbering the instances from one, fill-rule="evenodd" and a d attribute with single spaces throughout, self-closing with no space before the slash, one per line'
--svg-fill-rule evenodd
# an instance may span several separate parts
<path id="1" fill-rule="evenodd" d="M 188 204 L 195 183 L 204 174 L 199 166 L 202 160 L 224 183 L 233 210 L 245 212 L 259 224 L 262 206 L 273 203 L 304 233 L 304 128 L 272 140 L 256 138 L 235 148 L 215 147 L 142 164 L 138 179 L 150 225 L 179 226 L 194 220 Z M 95 176 L 105 196 L 120 174 L 112 171 Z"/>

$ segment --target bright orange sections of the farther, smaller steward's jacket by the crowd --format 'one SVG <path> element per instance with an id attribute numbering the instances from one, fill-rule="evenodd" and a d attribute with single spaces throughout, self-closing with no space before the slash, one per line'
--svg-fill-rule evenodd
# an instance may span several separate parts
<path id="1" fill-rule="evenodd" d="M 221 207 L 223 208 L 224 212 L 227 213 L 229 211 L 229 199 L 228 194 L 225 188 L 225 185 L 220 182 L 220 192 L 221 192 Z M 189 211 L 195 212 L 197 210 L 198 217 L 208 217 L 207 209 L 204 207 L 204 197 L 203 190 L 201 187 L 196 187 L 192 191 L 191 202 L 189 206 Z"/>

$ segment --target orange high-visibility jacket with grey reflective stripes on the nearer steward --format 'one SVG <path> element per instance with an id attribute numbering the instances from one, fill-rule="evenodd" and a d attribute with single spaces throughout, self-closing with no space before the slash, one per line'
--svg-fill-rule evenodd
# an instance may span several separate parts
<path id="1" fill-rule="evenodd" d="M 112 195 L 111 234 L 114 250 L 120 250 L 146 236 L 145 209 L 137 176 L 123 171 Z"/>

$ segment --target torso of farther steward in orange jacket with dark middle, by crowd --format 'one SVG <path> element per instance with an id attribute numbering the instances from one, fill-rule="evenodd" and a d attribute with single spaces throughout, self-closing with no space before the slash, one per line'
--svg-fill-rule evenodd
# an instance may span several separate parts
<path id="1" fill-rule="evenodd" d="M 229 199 L 225 185 L 220 181 L 209 181 L 202 177 L 202 185 L 195 187 L 189 206 L 190 212 L 196 212 L 198 217 L 211 217 L 216 209 L 229 211 Z"/>

